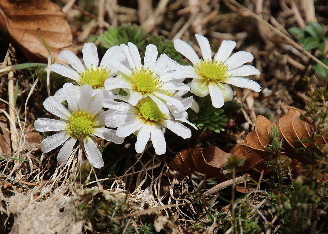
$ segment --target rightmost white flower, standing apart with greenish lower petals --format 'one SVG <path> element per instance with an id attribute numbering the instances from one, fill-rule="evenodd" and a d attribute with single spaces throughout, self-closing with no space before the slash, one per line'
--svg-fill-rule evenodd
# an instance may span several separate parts
<path id="1" fill-rule="evenodd" d="M 260 74 L 251 65 L 244 63 L 253 61 L 253 55 L 246 51 L 239 51 L 232 56 L 231 52 L 236 46 L 234 41 L 223 41 L 219 50 L 212 59 L 212 51 L 209 41 L 196 34 L 203 59 L 199 59 L 194 49 L 180 39 L 174 40 L 174 47 L 182 55 L 188 58 L 193 66 L 182 66 L 170 63 L 176 78 L 193 78 L 190 91 L 199 97 L 210 94 L 212 104 L 216 108 L 223 106 L 225 101 L 231 101 L 233 91 L 228 84 L 241 88 L 249 88 L 259 92 L 260 85 L 252 80 L 240 78 L 249 75 Z M 229 57 L 230 56 L 230 57 Z"/>

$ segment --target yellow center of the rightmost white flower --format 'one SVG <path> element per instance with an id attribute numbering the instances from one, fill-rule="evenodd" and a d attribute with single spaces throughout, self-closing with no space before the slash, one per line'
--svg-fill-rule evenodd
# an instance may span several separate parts
<path id="1" fill-rule="evenodd" d="M 207 79 L 208 81 L 223 82 L 225 79 L 230 77 L 226 75 L 228 65 L 223 65 L 217 61 L 203 61 L 201 59 L 200 64 L 198 64 L 195 69 L 197 75 Z"/>

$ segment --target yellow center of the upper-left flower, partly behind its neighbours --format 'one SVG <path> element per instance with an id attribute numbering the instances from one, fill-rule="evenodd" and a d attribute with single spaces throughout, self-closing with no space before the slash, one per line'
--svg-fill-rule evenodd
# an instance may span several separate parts
<path id="1" fill-rule="evenodd" d="M 104 88 L 104 82 L 109 77 L 111 71 L 106 71 L 106 67 L 99 68 L 96 66 L 94 69 L 92 66 L 89 69 L 85 69 L 85 72 L 80 74 L 80 85 L 89 84 L 93 89 Z"/>

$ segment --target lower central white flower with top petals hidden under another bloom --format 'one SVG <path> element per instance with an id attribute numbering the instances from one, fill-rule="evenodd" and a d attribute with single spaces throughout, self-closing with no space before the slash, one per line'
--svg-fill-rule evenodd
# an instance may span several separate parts
<path id="1" fill-rule="evenodd" d="M 186 101 L 187 105 L 191 105 L 191 99 Z M 182 103 L 183 105 L 184 103 Z M 174 105 L 169 105 L 172 114 L 163 114 L 156 103 L 150 98 L 141 99 L 137 105 L 132 106 L 125 102 L 116 102 L 110 99 L 103 101 L 103 106 L 117 112 L 109 114 L 105 123 L 106 126 L 117 127 L 116 134 L 120 137 L 125 137 L 131 134 L 137 135 L 137 142 L 135 143 L 135 150 L 137 153 L 144 151 L 149 140 L 153 142 L 155 152 L 163 154 L 166 152 L 166 142 L 164 134 L 161 129 L 168 128 L 175 134 L 185 138 L 191 137 L 189 128 L 179 123 L 178 120 L 189 123 L 183 114 L 179 112 Z M 189 106 L 184 107 L 183 112 Z M 173 116 L 176 119 L 173 119 Z M 191 123 L 189 123 L 191 124 Z M 193 126 L 193 124 L 191 124 Z M 193 126 L 195 127 L 195 125 Z"/>

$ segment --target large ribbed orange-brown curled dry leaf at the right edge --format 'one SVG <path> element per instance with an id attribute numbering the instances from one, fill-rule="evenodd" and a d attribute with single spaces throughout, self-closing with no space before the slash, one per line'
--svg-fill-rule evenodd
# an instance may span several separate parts
<path id="1" fill-rule="evenodd" d="M 295 149 L 306 148 L 309 145 L 301 142 L 308 138 L 310 125 L 303 120 L 301 114 L 293 108 L 279 119 L 276 124 L 279 136 L 283 138 L 282 142 L 282 156 L 290 158 L 290 168 L 295 171 L 295 174 L 302 170 L 302 166 L 308 161 L 301 155 L 295 154 Z M 246 139 L 237 147 L 234 147 L 230 153 L 232 156 L 241 157 L 245 160 L 243 166 L 239 168 L 240 171 L 262 171 L 267 172 L 267 165 L 264 161 L 268 160 L 270 153 L 265 150 L 265 146 L 270 143 L 269 134 L 273 124 L 263 117 L 257 116 L 255 122 L 255 129 L 249 133 Z M 327 144 L 327 136 L 318 136 L 315 141 L 316 147 L 322 147 L 322 144 Z M 223 167 L 221 165 L 220 167 Z"/>

